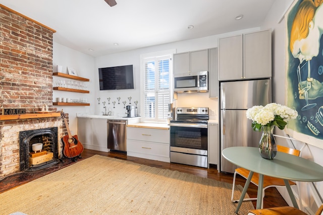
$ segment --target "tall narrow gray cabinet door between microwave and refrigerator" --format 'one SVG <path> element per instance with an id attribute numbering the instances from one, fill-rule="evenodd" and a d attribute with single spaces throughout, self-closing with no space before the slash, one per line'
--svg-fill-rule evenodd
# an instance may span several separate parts
<path id="1" fill-rule="evenodd" d="M 208 71 L 208 92 L 209 98 L 217 98 L 219 96 L 218 81 L 218 48 L 209 49 L 209 71 Z"/>

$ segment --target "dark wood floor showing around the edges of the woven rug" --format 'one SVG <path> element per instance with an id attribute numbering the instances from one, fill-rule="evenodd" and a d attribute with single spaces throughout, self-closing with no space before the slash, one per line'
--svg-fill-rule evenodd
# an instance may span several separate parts
<path id="1" fill-rule="evenodd" d="M 89 158 L 93 155 L 102 155 L 102 156 L 107 156 L 111 158 L 127 160 L 137 164 L 143 164 L 143 165 L 162 168 L 162 169 L 177 170 L 179 172 L 189 173 L 200 177 L 210 178 L 210 179 L 227 182 L 231 184 L 233 181 L 233 174 L 219 173 L 215 166 L 211 166 L 209 169 L 206 169 L 206 168 L 194 167 L 194 166 L 188 166 L 188 165 L 182 165 L 182 164 L 166 163 L 166 162 L 136 158 L 136 157 L 127 156 L 124 153 L 118 153 L 118 152 L 99 152 L 95 150 L 84 149 L 84 152 L 82 153 L 82 159 L 79 159 L 79 160 Z M 16 186 L 20 186 L 29 181 L 32 181 L 43 175 L 49 174 L 51 172 L 55 172 L 59 169 L 62 169 L 72 164 L 74 164 L 74 162 L 72 162 L 70 159 L 64 159 L 64 163 L 61 162 L 59 164 L 56 164 L 52 167 L 49 167 L 43 170 L 38 170 L 34 172 L 20 172 L 20 173 L 5 177 L 4 179 L 0 180 L 0 193 L 5 192 L 6 190 L 12 189 Z M 236 183 L 244 186 L 245 179 L 243 179 L 242 177 L 237 177 Z M 249 194 L 250 197 L 256 197 L 257 187 L 253 184 L 250 184 L 247 193 Z M 253 205 L 254 207 L 256 207 L 256 201 L 253 201 Z M 288 204 L 286 203 L 284 198 L 280 195 L 280 193 L 276 190 L 276 188 L 266 189 L 264 203 L 263 203 L 264 208 L 287 206 L 287 205 Z"/>

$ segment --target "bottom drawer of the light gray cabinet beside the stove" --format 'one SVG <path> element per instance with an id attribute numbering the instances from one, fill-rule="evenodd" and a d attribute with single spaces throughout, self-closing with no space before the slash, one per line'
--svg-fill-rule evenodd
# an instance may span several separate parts
<path id="1" fill-rule="evenodd" d="M 156 157 L 169 158 L 170 145 L 160 144 L 157 142 L 146 142 L 146 141 L 127 139 L 127 154 L 131 152 L 144 154 L 144 155 L 147 155 L 148 157 L 156 156 Z"/>

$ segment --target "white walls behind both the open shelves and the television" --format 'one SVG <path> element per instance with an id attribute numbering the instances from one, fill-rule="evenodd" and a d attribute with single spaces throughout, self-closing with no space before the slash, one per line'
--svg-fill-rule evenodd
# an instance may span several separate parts
<path id="1" fill-rule="evenodd" d="M 214 35 L 209 37 L 203 37 L 192 40 L 179 41 L 174 43 L 168 43 L 158 46 L 151 46 L 126 52 L 120 52 L 116 54 L 110 54 L 100 57 L 91 57 L 81 52 L 75 51 L 71 48 L 63 46 L 59 43 L 53 43 L 53 71 L 57 71 L 56 66 L 63 66 L 63 73 L 67 73 L 67 66 L 75 68 L 79 77 L 88 78 L 88 90 L 90 94 L 80 94 L 65 91 L 53 91 L 53 102 L 57 97 L 66 98 L 86 98 L 90 106 L 57 106 L 58 110 L 64 109 L 65 113 L 69 113 L 70 117 L 70 129 L 77 134 L 77 113 L 82 114 L 98 114 L 102 115 L 103 109 L 102 102 L 105 101 L 106 111 L 113 111 L 114 115 L 126 116 L 126 109 L 124 108 L 123 101 L 126 101 L 129 105 L 128 97 L 132 97 L 131 105 L 135 105 L 134 101 L 138 101 L 138 113 L 140 113 L 140 55 L 158 51 L 165 51 L 170 49 L 176 49 L 177 53 L 200 50 L 206 48 L 212 48 L 218 46 L 218 38 L 232 36 L 236 34 L 252 32 L 259 30 L 260 28 L 245 29 L 241 31 L 229 32 L 226 34 Z M 134 68 L 134 87 L 133 90 L 116 90 L 116 91 L 100 91 L 98 84 L 98 68 L 119 66 L 133 64 Z M 53 80 L 64 80 L 63 78 L 53 77 Z M 110 105 L 107 98 L 111 98 Z M 120 97 L 120 104 L 118 104 L 117 98 Z M 98 104 L 97 98 L 100 98 L 100 104 Z M 112 102 L 116 102 L 113 105 Z M 209 107 L 211 111 L 210 118 L 218 118 L 218 99 L 209 99 L 208 93 L 198 93 L 195 95 L 180 94 L 178 101 L 175 101 L 177 106 L 205 106 Z M 115 108 L 114 108 L 115 106 Z"/>

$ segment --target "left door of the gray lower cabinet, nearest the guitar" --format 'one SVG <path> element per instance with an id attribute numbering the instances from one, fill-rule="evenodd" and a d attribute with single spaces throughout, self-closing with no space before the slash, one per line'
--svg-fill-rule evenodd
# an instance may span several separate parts
<path id="1" fill-rule="evenodd" d="M 92 123 L 90 118 L 78 118 L 78 139 L 83 145 L 92 145 Z"/>

